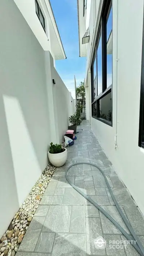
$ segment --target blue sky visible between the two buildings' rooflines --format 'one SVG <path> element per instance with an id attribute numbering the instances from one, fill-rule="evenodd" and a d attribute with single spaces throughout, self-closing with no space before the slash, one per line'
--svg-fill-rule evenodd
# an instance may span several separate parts
<path id="1" fill-rule="evenodd" d="M 84 81 L 86 58 L 79 57 L 77 0 L 50 0 L 67 59 L 57 60 L 56 69 L 75 98 L 74 75 L 77 85 Z"/>

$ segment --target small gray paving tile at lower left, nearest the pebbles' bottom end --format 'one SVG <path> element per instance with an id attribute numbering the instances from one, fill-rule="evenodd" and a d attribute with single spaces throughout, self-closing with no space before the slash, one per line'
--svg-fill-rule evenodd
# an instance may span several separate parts
<path id="1" fill-rule="evenodd" d="M 41 233 L 35 248 L 36 252 L 51 253 L 55 233 Z"/>

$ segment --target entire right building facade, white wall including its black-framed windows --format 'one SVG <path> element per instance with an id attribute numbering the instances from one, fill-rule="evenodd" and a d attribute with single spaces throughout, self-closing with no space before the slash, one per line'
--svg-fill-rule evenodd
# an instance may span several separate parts
<path id="1" fill-rule="evenodd" d="M 144 1 L 77 6 L 80 57 L 87 56 L 86 118 L 144 214 Z"/>

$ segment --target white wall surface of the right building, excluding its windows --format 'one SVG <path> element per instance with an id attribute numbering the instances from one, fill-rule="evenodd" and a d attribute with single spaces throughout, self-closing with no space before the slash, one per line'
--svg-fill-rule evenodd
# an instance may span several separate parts
<path id="1" fill-rule="evenodd" d="M 96 17 L 98 17 L 99 2 L 102 1 L 96 1 Z M 117 3 L 118 45 L 116 43 Z M 113 1 L 113 127 L 91 118 L 91 128 L 144 214 L 144 149 L 138 147 L 143 5 L 143 0 L 134 1 L 132 4 L 130 0 Z M 116 77 L 116 47 L 119 58 L 118 77 Z M 87 61 L 89 62 L 89 59 Z M 118 148 L 114 149 L 117 78 Z M 89 99 L 91 101 L 91 97 Z"/>

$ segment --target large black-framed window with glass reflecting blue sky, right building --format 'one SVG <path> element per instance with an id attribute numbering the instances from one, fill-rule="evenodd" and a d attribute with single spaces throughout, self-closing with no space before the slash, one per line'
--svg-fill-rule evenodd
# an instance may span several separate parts
<path id="1" fill-rule="evenodd" d="M 112 126 L 112 0 L 105 0 L 91 63 L 92 117 Z"/>

